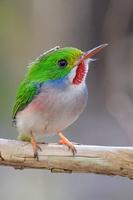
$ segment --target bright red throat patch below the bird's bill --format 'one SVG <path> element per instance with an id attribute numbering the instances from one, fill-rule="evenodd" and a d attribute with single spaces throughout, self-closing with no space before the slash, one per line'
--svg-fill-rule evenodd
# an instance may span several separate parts
<path id="1" fill-rule="evenodd" d="M 76 75 L 75 75 L 75 77 L 74 77 L 72 83 L 73 83 L 74 85 L 80 84 L 80 83 L 83 81 L 83 79 L 84 79 L 85 73 L 86 73 L 85 63 L 84 63 L 84 62 L 81 62 L 81 63 L 78 65 L 77 69 L 76 69 Z"/>

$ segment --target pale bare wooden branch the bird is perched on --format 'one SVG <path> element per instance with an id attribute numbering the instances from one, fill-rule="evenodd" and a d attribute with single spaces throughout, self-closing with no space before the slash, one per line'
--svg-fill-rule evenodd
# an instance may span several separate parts
<path id="1" fill-rule="evenodd" d="M 72 156 L 66 146 L 40 144 L 39 161 L 33 157 L 31 144 L 0 139 L 0 165 L 15 169 L 40 168 L 52 172 L 85 172 L 133 178 L 133 147 L 75 145 Z"/>

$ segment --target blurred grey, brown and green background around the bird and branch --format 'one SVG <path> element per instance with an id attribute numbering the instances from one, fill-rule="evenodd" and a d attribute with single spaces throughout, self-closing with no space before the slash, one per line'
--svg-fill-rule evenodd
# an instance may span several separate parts
<path id="1" fill-rule="evenodd" d="M 0 0 L 0 137 L 17 137 L 11 110 L 28 63 L 56 45 L 101 43 L 109 46 L 91 63 L 88 106 L 65 133 L 82 144 L 133 145 L 133 1 Z M 132 186 L 121 177 L 0 168 L 2 200 L 132 200 Z"/>

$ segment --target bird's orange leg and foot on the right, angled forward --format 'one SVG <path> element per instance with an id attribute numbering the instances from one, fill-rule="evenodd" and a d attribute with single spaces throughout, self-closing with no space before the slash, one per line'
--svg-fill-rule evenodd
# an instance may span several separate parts
<path id="1" fill-rule="evenodd" d="M 60 137 L 60 144 L 64 144 L 66 146 L 68 146 L 68 148 L 72 151 L 73 156 L 75 156 L 75 153 L 77 152 L 75 146 L 73 145 L 72 142 L 70 142 L 64 135 L 62 132 L 58 132 L 58 135 Z"/>

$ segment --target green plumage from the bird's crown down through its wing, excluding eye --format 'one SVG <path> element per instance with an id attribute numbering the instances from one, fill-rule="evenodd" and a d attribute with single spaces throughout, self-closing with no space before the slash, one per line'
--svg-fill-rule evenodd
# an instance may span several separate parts
<path id="1" fill-rule="evenodd" d="M 36 83 L 45 83 L 67 76 L 82 54 L 83 52 L 79 49 L 65 47 L 43 54 L 31 63 L 28 66 L 25 79 L 17 91 L 12 118 L 15 119 L 16 114 L 23 110 L 37 95 Z M 58 61 L 61 59 L 67 60 L 67 67 L 59 67 Z"/>

